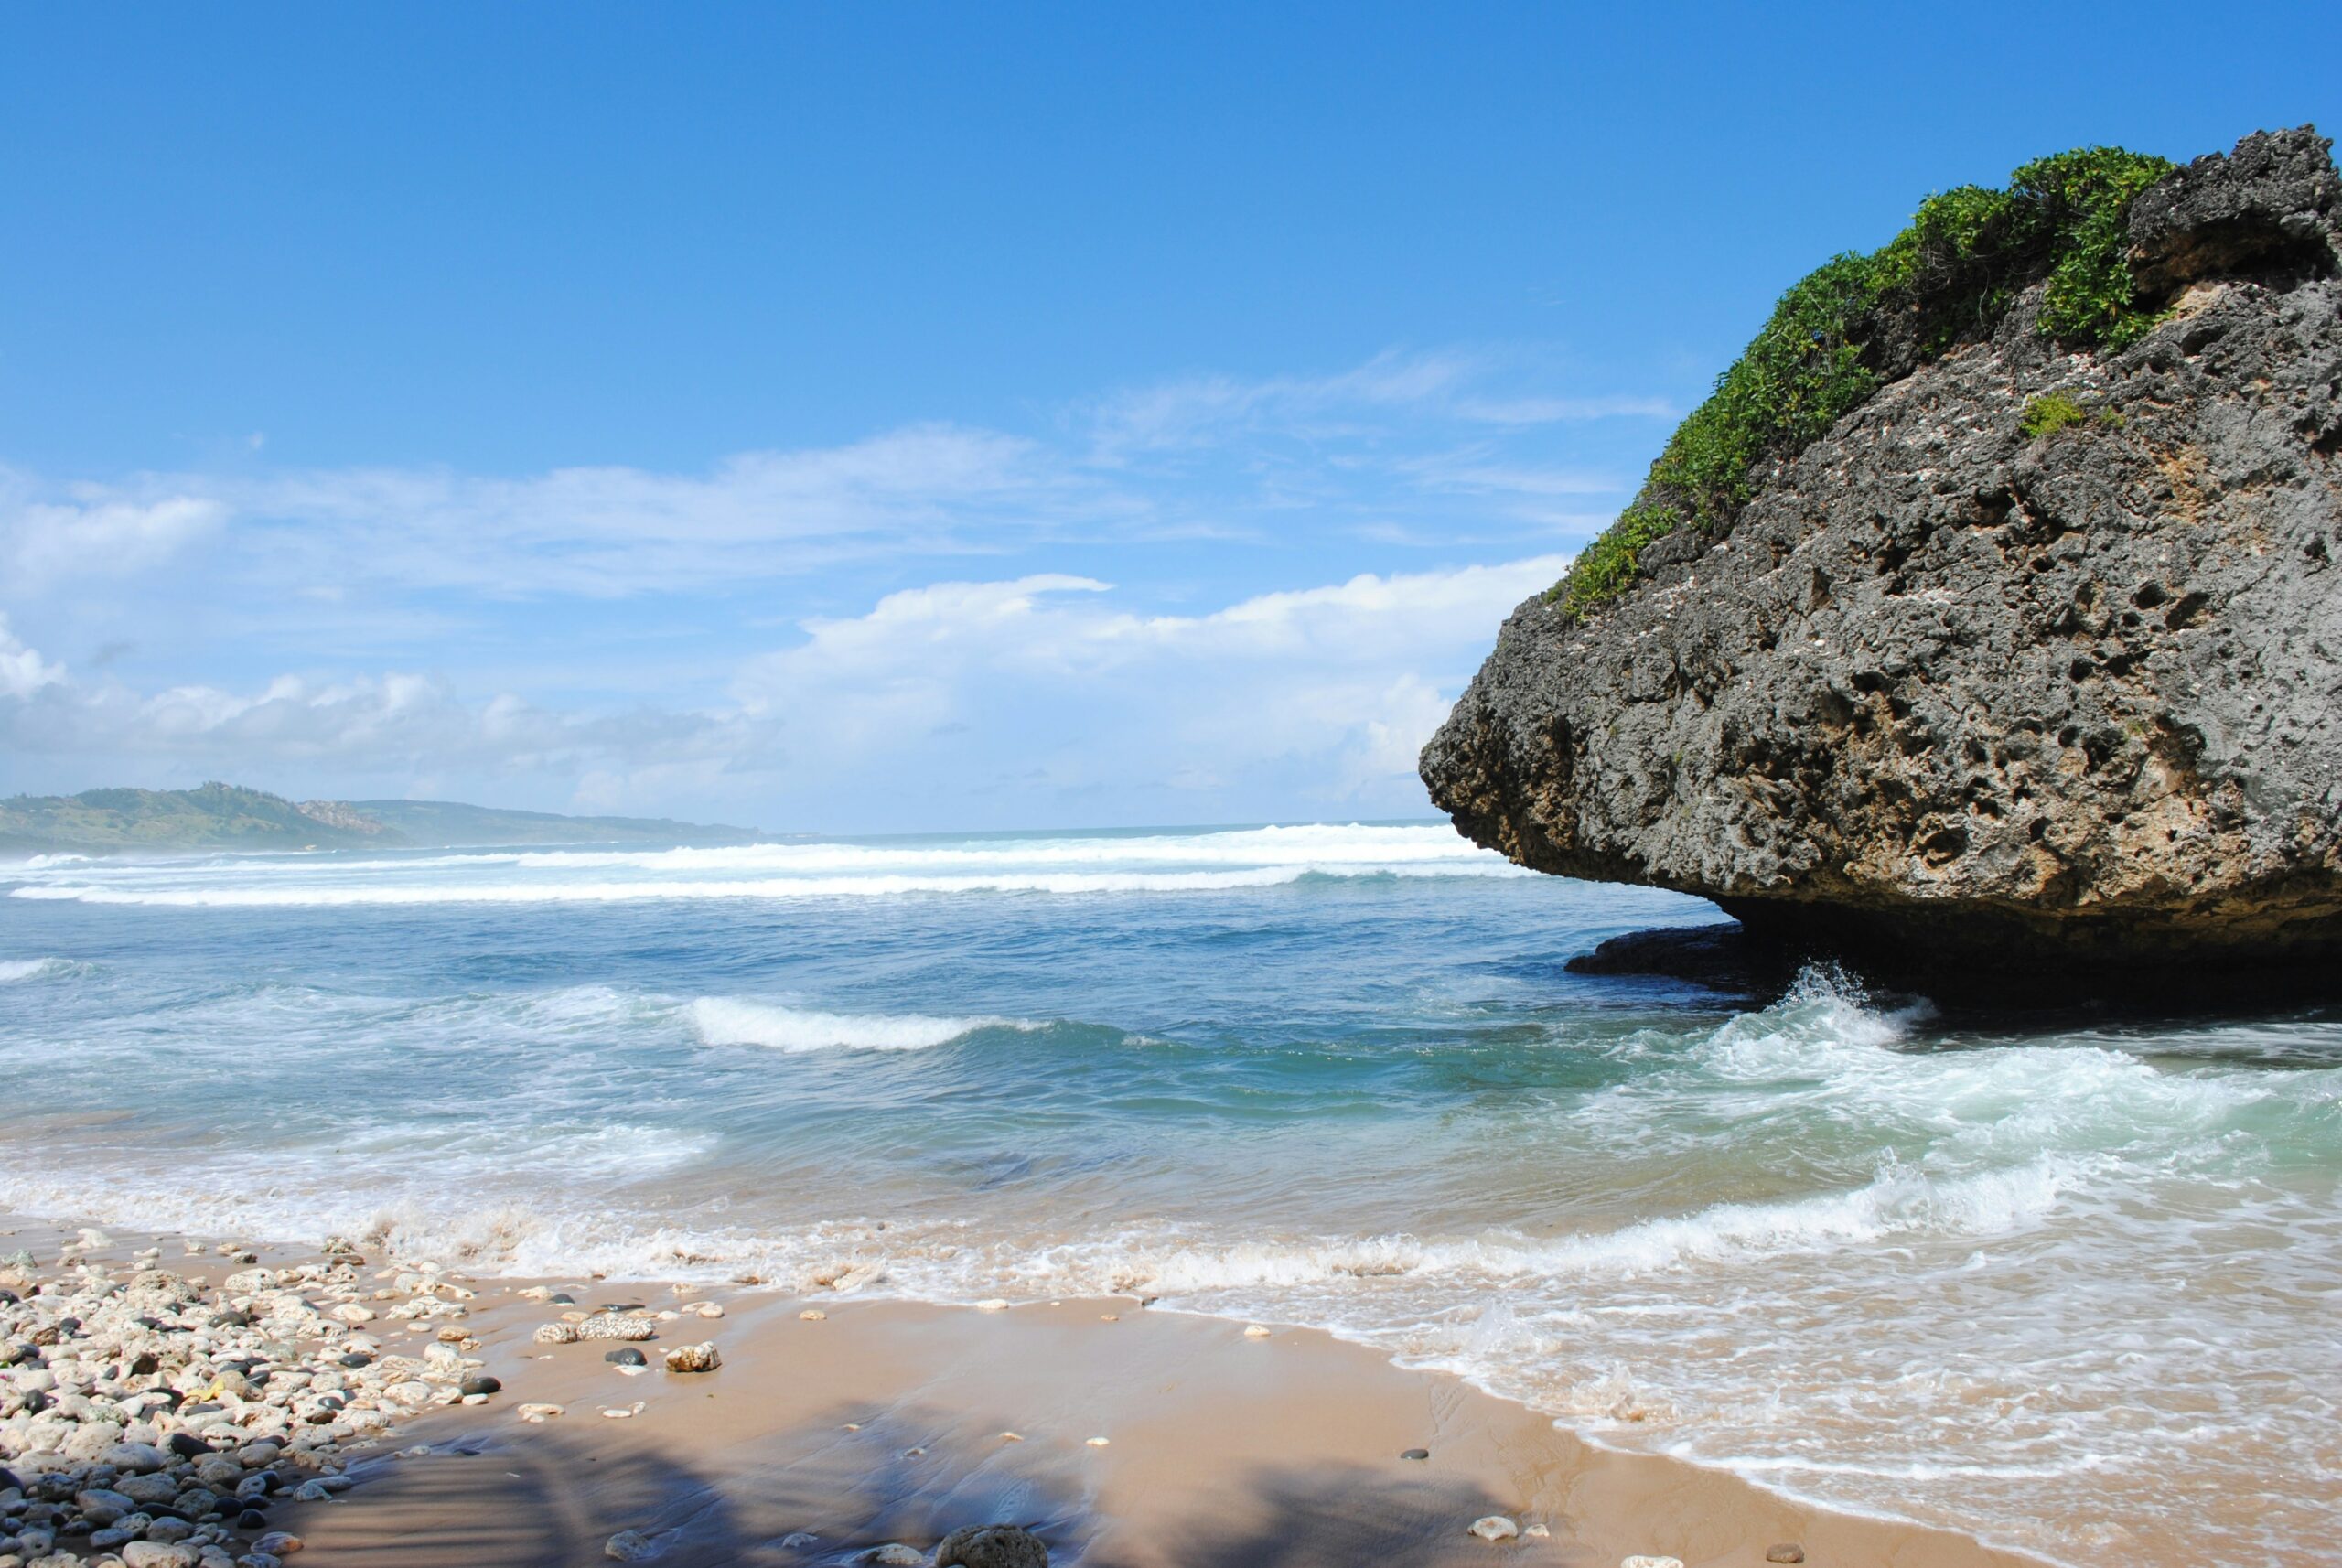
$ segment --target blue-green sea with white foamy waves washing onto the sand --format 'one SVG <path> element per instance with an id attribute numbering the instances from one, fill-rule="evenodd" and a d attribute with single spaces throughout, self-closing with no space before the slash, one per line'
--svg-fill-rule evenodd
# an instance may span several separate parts
<path id="1" fill-rule="evenodd" d="M 1848 976 L 1771 1006 L 1569 976 L 1717 915 L 1445 826 L 0 892 L 0 1208 L 1129 1290 L 2073 1563 L 2335 1559 L 2335 1009 L 1977 1025 Z"/>

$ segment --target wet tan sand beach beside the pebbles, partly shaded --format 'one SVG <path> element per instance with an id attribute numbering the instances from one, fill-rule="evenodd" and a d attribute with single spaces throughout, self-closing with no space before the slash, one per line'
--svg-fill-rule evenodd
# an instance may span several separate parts
<path id="1" fill-rule="evenodd" d="M 73 1233 L 0 1217 L 0 1252 L 30 1247 L 54 1278 L 49 1259 Z M 164 1271 L 208 1287 L 237 1271 L 208 1245 L 192 1257 L 180 1238 L 145 1231 L 117 1231 L 91 1257 L 112 1271 L 152 1245 Z M 251 1252 L 260 1266 L 316 1259 Z M 386 1268 L 368 1254 L 361 1285 Z M 302 1538 L 302 1566 L 555 1568 L 609 1561 L 628 1531 L 656 1552 L 635 1561 L 674 1568 L 843 1566 L 890 1545 L 927 1561 L 951 1528 L 993 1521 L 1033 1524 L 1052 1561 L 1096 1568 L 1445 1568 L 1492 1552 L 1564 1568 L 1632 1554 L 1740 1568 L 1787 1545 L 1817 1566 L 2047 1561 L 1600 1446 L 1454 1374 L 1401 1367 L 1321 1329 L 1248 1332 L 1122 1297 L 984 1311 L 457 1266 L 438 1278 L 478 1294 L 457 1315 L 408 1325 L 319 1318 L 309 1360 L 354 1332 L 382 1341 L 384 1357 L 419 1355 L 454 1320 L 461 1355 L 501 1388 L 358 1435 L 337 1456 L 344 1495 L 274 1507 L 267 1526 Z M 536 1299 L 550 1294 L 576 1301 Z M 635 1346 L 644 1371 L 604 1360 L 614 1339 L 536 1341 L 564 1313 L 602 1304 L 651 1315 L 656 1339 Z M 698 1318 L 700 1304 L 721 1315 Z M 663 1369 L 665 1350 L 700 1341 L 719 1348 L 719 1369 Z M 562 1414 L 529 1423 L 522 1404 Z M 1473 1538 L 1468 1526 L 1490 1514 L 1522 1535 Z"/>

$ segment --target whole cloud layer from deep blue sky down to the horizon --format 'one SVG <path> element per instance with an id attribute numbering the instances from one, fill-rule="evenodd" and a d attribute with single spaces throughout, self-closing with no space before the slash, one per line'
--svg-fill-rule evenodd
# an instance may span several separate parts
<path id="1" fill-rule="evenodd" d="M 0 470 L 5 786 L 838 831 L 1419 814 L 1415 751 L 1670 414 L 1384 353 L 700 473 Z"/>

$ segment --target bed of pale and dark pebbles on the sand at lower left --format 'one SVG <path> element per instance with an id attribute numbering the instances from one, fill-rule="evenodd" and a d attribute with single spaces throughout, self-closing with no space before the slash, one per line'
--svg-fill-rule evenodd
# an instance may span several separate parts
<path id="1" fill-rule="evenodd" d="M 206 1285 L 159 1247 L 89 1261 L 105 1245 L 0 1259 L 0 1568 L 276 1568 L 302 1545 L 269 1528 L 276 1502 L 333 1498 L 403 1416 L 497 1392 L 468 1355 L 473 1292 L 436 1264 L 368 1273 L 335 1240 L 260 1268 L 225 1245 L 239 1268 Z M 400 1355 L 375 1322 L 438 1327 Z"/>

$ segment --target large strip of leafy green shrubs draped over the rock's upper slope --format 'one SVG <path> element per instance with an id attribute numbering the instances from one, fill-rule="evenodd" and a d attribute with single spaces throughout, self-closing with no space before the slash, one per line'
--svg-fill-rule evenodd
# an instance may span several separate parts
<path id="1" fill-rule="evenodd" d="M 2019 169 L 2007 190 L 1927 197 L 1881 250 L 1803 276 L 1548 599 L 1576 618 L 1618 597 L 1644 548 L 1686 524 L 1728 524 L 1764 468 L 1803 452 L 1888 381 L 1988 337 L 2035 283 L 2045 337 L 2077 349 L 2134 342 L 2157 311 L 2136 300 L 2124 225 L 2138 192 L 2171 169 L 2120 147 L 2059 152 Z"/>

